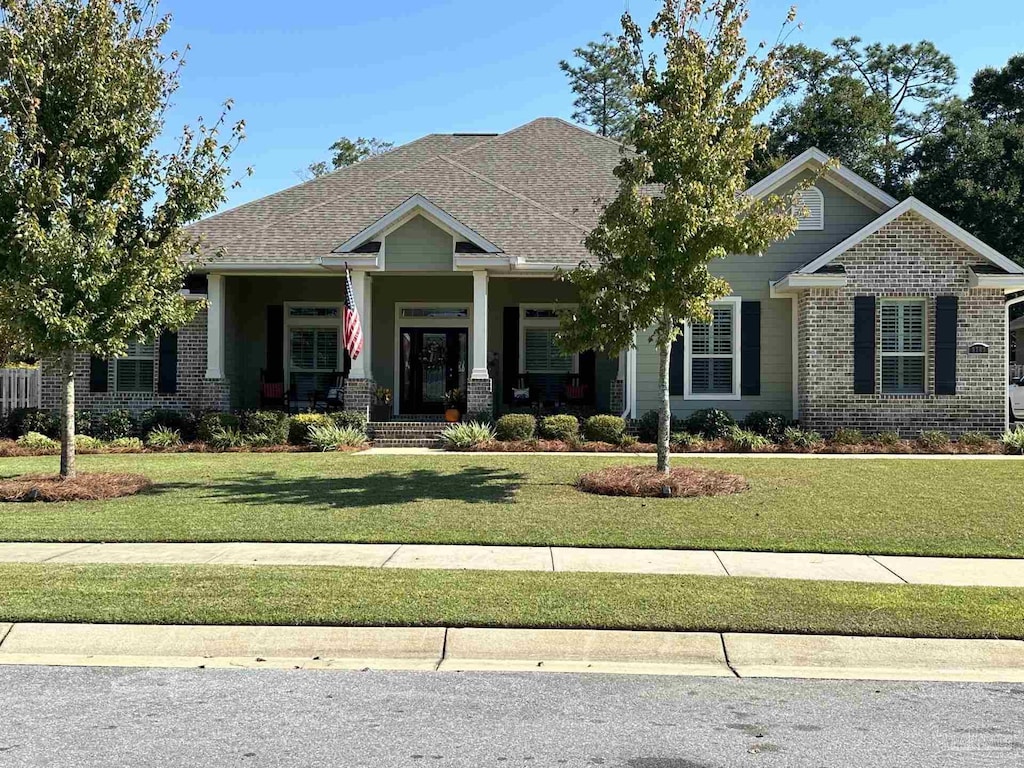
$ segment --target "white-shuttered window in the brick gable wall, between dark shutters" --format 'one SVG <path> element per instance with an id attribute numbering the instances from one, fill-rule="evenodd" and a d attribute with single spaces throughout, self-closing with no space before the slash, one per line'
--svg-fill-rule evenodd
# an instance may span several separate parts
<path id="1" fill-rule="evenodd" d="M 882 302 L 882 391 L 925 392 L 925 302 Z"/>

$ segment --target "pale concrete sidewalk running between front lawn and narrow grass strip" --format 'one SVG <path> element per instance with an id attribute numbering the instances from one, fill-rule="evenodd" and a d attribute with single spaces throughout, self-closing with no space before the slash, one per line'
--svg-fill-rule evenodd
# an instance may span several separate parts
<path id="1" fill-rule="evenodd" d="M 0 562 L 344 565 L 1024 587 L 1024 559 L 435 544 L 0 543 Z"/>

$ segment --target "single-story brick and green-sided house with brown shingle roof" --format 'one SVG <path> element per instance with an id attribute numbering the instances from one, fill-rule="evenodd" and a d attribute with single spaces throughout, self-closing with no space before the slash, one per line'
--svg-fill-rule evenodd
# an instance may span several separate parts
<path id="1" fill-rule="evenodd" d="M 194 226 L 209 261 L 187 287 L 207 307 L 124 358 L 79 364 L 80 408 L 252 409 L 261 381 L 301 402 L 347 372 L 345 404 L 376 387 L 396 416 L 509 408 L 513 390 L 638 417 L 657 407 L 646 335 L 617 355 L 563 354 L 556 270 L 616 189 L 622 147 L 562 120 L 502 134 L 432 134 Z M 792 188 L 811 150 L 752 186 Z M 914 199 L 843 167 L 805 193 L 797 232 L 714 265 L 732 296 L 672 356 L 676 414 L 775 411 L 830 432 L 995 433 L 1007 418 L 1007 295 L 1024 269 Z M 340 343 L 351 269 L 365 348 Z M 56 381 L 44 399 L 56 407 Z"/>

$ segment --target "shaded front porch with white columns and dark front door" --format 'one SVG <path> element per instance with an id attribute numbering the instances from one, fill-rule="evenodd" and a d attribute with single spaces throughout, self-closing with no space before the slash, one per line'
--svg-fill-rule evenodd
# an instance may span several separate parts
<path id="1" fill-rule="evenodd" d="M 211 274 L 207 374 L 218 373 L 219 351 L 232 409 L 266 407 L 265 385 L 276 384 L 304 410 L 341 381 L 343 407 L 370 415 L 377 404 L 378 419 L 384 390 L 392 418 L 439 416 L 456 391 L 471 418 L 516 408 L 624 410 L 625 359 L 564 355 L 554 343 L 571 286 L 485 270 L 353 270 L 352 285 L 364 332 L 354 360 L 342 346 L 342 273 Z"/>

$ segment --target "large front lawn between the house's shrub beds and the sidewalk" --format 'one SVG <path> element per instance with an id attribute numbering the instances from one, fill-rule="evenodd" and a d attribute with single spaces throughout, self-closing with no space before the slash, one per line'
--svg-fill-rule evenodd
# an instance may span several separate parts
<path id="1" fill-rule="evenodd" d="M 714 499 L 588 496 L 578 474 L 649 457 L 178 454 L 84 457 L 157 486 L 0 505 L 0 541 L 300 541 L 718 548 L 1024 557 L 1011 461 L 687 459 L 737 472 Z M 677 460 L 680 461 L 680 460 Z M 56 460 L 0 460 L 0 475 Z"/>

